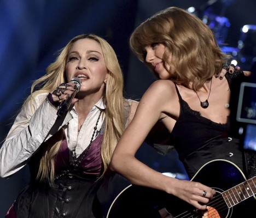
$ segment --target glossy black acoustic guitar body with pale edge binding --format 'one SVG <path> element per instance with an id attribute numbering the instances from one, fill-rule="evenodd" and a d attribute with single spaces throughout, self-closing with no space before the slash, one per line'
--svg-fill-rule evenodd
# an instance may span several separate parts
<path id="1" fill-rule="evenodd" d="M 245 201 L 239 202 L 236 207 L 229 208 L 222 196 L 224 191 L 246 181 L 245 175 L 232 162 L 226 160 L 210 161 L 203 165 L 191 180 L 216 190 L 216 196 L 208 203 L 208 212 L 197 212 L 192 205 L 175 196 L 168 195 L 166 192 L 129 185 L 115 198 L 107 218 L 159 217 L 158 211 L 162 208 L 170 213 L 166 217 L 192 218 L 204 215 L 208 218 L 229 218 L 235 217 L 237 213 L 241 214 Z M 252 217 L 256 217 L 256 215 L 254 214 Z"/>

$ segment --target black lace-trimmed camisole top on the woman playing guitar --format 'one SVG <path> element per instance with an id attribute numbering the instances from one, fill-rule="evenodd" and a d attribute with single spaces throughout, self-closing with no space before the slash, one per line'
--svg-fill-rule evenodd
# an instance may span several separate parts
<path id="1" fill-rule="evenodd" d="M 182 99 L 177 86 L 176 91 L 181 111 L 171 132 L 171 141 L 179 154 L 179 158 L 183 160 L 191 152 L 202 147 L 208 140 L 222 137 L 227 125 L 214 123 L 210 119 L 202 117 L 199 111 L 192 110 L 188 103 Z"/>

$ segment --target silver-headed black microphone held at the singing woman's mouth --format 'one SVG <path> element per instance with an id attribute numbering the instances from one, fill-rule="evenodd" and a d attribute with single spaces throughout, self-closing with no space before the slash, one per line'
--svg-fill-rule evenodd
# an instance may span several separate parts
<path id="1" fill-rule="evenodd" d="M 68 111 L 71 102 L 74 98 L 74 96 L 79 92 L 80 87 L 81 87 L 81 80 L 78 77 L 72 78 L 72 80 L 70 82 L 75 83 L 75 90 L 73 92 L 72 95 L 68 95 L 67 98 L 65 100 L 63 100 L 59 106 L 59 109 L 57 111 L 57 116 L 59 117 L 63 117 L 64 114 L 66 114 L 66 112 Z"/>

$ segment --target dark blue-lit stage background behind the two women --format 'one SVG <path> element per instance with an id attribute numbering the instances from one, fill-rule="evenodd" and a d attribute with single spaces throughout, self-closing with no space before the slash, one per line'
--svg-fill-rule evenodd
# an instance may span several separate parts
<path id="1" fill-rule="evenodd" d="M 251 68 L 256 56 L 255 30 L 250 29 L 256 25 L 255 0 L 1 0 L 0 142 L 30 93 L 32 81 L 44 75 L 55 52 L 78 34 L 100 35 L 114 47 L 124 72 L 127 98 L 141 98 L 154 77 L 130 52 L 129 36 L 139 22 L 170 6 L 199 10 L 196 15 L 205 19 L 221 46 L 226 44 L 223 50 L 234 54 L 244 70 Z M 240 31 L 244 25 L 253 25 L 246 34 Z M 240 39 L 244 41 L 243 48 Z M 175 151 L 163 157 L 143 144 L 138 158 L 160 172 L 187 178 Z M 4 217 L 28 181 L 26 167 L 9 179 L 0 179 L 0 217 Z"/>

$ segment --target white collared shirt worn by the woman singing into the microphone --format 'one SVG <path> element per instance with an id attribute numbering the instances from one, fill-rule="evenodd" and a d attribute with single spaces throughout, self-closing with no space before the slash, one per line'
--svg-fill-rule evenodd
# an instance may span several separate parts
<path id="1" fill-rule="evenodd" d="M 37 95 L 32 107 L 29 106 L 31 101 L 28 101 L 16 117 L 0 149 L 1 177 L 9 177 L 24 167 L 40 144 L 62 127 L 65 129 L 68 148 L 73 150 L 76 147 L 77 156 L 88 147 L 98 114 L 105 108 L 102 99 L 92 107 L 78 135 L 78 114 L 75 108 L 67 113 L 63 122 L 54 125 L 57 119 L 57 109 L 46 100 L 47 95 L 48 93 Z M 98 122 L 97 131 L 101 129 L 103 120 L 104 113 Z"/>

